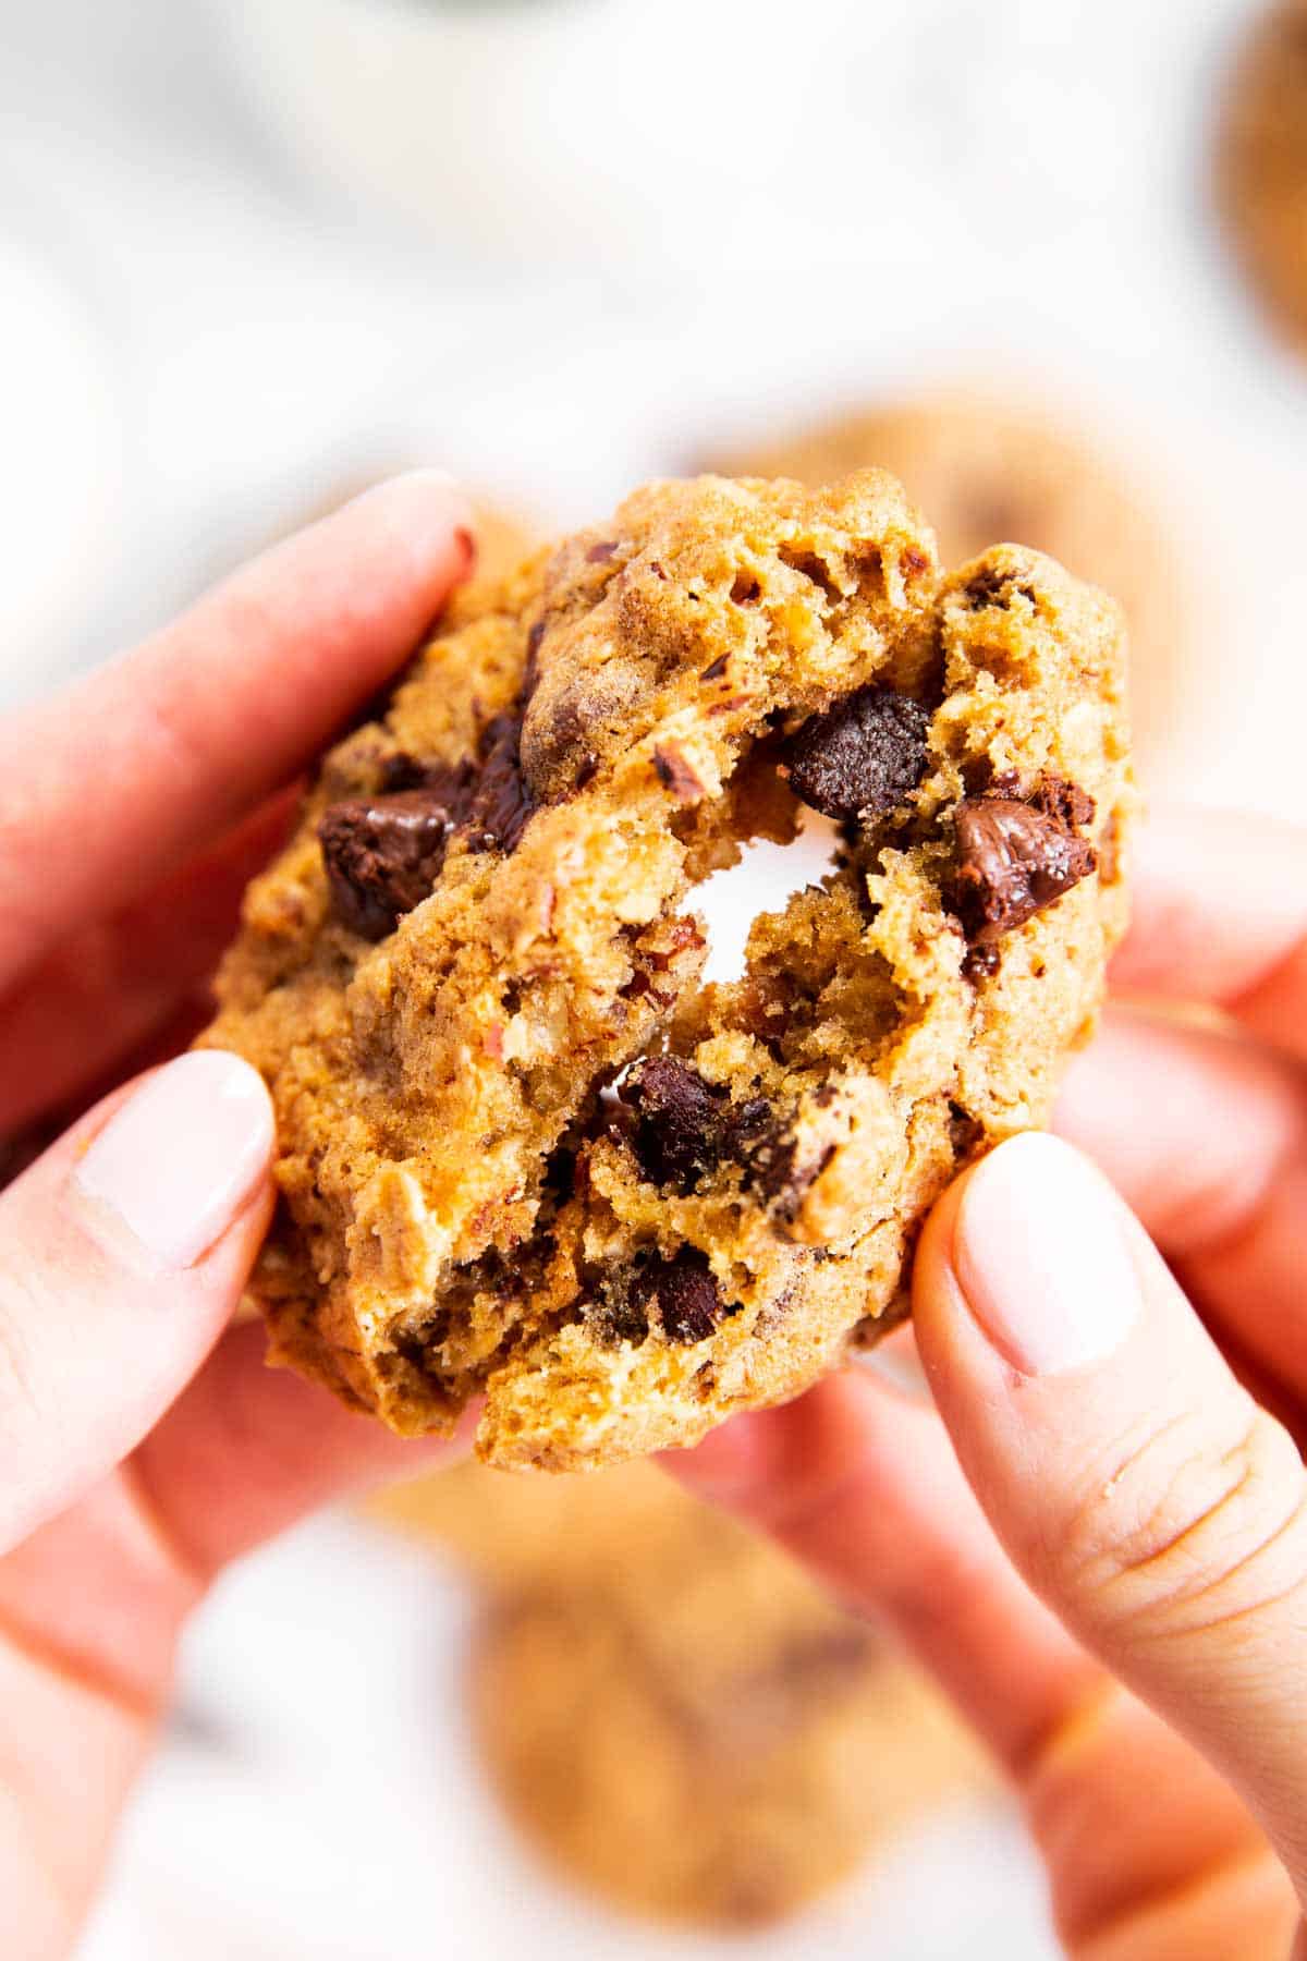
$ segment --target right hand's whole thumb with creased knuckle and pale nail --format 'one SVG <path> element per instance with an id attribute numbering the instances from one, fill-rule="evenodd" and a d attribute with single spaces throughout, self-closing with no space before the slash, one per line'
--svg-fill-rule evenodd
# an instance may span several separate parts
<path id="1" fill-rule="evenodd" d="M 921 1243 L 923 1363 L 1025 1579 L 1240 1790 L 1307 1890 L 1307 1477 L 1070 1145 L 1023 1135 Z M 1158 1794 L 1164 1802 L 1164 1792 Z"/>

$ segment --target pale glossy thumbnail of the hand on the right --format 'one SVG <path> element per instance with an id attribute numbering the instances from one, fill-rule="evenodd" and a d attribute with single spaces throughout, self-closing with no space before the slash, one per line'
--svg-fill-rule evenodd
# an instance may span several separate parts
<path id="1" fill-rule="evenodd" d="M 1140 1310 L 1119 1198 L 1041 1131 L 1011 1137 L 968 1179 L 952 1269 L 982 1332 L 1023 1375 L 1103 1361 Z"/>

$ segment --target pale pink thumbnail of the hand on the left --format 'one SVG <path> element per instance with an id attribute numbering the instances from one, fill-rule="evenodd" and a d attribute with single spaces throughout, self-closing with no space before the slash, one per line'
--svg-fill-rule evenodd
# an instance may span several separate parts
<path id="1" fill-rule="evenodd" d="M 270 1151 L 272 1108 L 259 1073 L 239 1055 L 198 1049 L 135 1090 L 73 1182 L 153 1263 L 194 1267 L 249 1200 Z"/>

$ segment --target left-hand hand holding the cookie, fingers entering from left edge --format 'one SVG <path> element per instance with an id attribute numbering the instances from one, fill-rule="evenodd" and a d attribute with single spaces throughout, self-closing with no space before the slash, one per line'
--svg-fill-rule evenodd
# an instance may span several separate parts
<path id="1" fill-rule="evenodd" d="M 413 475 L 268 553 L 0 728 L 0 1135 L 204 1018 L 286 786 L 468 571 Z M 231 1055 L 165 1063 L 0 1192 L 0 1918 L 65 1955 L 216 1571 L 429 1461 L 223 1335 L 268 1220 L 272 1114 Z"/>

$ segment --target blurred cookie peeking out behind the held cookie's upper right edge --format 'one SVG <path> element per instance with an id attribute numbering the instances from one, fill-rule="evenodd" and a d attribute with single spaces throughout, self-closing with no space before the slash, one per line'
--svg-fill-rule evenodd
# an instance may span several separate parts
<path id="1" fill-rule="evenodd" d="M 1125 469 L 1076 427 L 972 390 L 850 408 L 700 467 L 825 484 L 872 463 L 929 514 L 944 567 L 995 539 L 1033 545 L 1121 602 L 1135 747 L 1146 773 L 1178 741 L 1187 714 L 1193 600 L 1174 541 Z"/>

